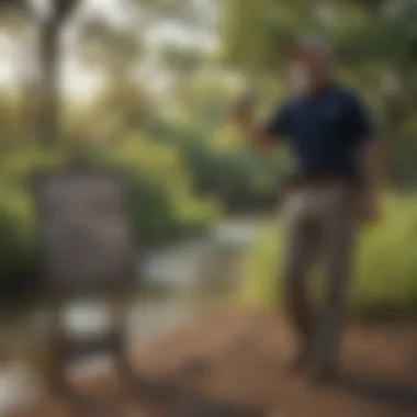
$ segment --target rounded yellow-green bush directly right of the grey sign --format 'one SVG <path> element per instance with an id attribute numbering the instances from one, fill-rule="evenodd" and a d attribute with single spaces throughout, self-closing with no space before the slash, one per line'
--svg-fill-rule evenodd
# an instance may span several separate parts
<path id="1" fill-rule="evenodd" d="M 140 243 L 160 244 L 202 232 L 218 214 L 216 203 L 192 196 L 190 177 L 172 146 L 128 137 L 102 162 L 132 179 L 134 225 Z"/>

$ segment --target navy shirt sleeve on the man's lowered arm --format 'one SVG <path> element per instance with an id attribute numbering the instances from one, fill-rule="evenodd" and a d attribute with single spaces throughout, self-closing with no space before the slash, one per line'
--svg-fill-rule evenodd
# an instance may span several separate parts
<path id="1" fill-rule="evenodd" d="M 348 111 L 348 126 L 353 142 L 362 145 L 374 136 L 374 126 L 364 102 L 352 97 Z"/>

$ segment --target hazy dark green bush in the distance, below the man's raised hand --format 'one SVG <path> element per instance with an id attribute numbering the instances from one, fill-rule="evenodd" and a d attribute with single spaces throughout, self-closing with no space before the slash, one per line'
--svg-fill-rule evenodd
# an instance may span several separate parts
<path id="1" fill-rule="evenodd" d="M 149 131 L 158 143 L 178 149 L 195 190 L 215 195 L 228 211 L 250 212 L 274 205 L 282 164 L 274 155 L 260 155 L 245 147 L 230 126 L 207 136 L 192 124 L 154 121 Z"/>

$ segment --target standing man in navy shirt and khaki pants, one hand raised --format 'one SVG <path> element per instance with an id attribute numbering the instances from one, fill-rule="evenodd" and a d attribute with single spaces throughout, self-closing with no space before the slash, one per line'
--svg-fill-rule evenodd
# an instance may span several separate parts
<path id="1" fill-rule="evenodd" d="M 335 376 L 347 297 L 347 280 L 358 221 L 377 216 L 381 182 L 379 143 L 357 94 L 333 82 L 329 48 L 302 40 L 291 60 L 296 89 L 264 126 L 257 125 L 251 101 L 235 109 L 247 140 L 268 148 L 288 138 L 295 160 L 284 204 L 286 228 L 284 282 L 288 312 L 300 338 L 295 370 Z M 313 319 L 306 275 L 320 256 L 325 294 Z"/>

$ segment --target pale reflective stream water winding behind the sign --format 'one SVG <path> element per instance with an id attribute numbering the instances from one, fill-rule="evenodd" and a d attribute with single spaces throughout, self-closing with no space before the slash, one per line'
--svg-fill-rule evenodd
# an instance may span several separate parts
<path id="1" fill-rule="evenodd" d="M 199 294 L 205 296 L 207 282 L 225 284 L 223 278 L 221 283 L 218 281 L 222 272 L 232 279 L 230 264 L 257 238 L 262 226 L 262 219 L 234 218 L 219 223 L 210 236 L 148 253 L 142 262 L 145 285 L 169 291 L 151 300 L 134 294 L 126 302 L 129 342 L 135 348 L 145 346 L 195 318 L 202 303 L 190 303 L 190 295 L 192 298 Z M 111 322 L 108 306 L 91 301 L 70 305 L 65 317 L 67 331 L 77 335 L 105 331 Z M 0 322 L 0 359 L 3 360 L 3 364 L 0 362 L 0 415 L 26 406 L 42 395 L 41 358 L 47 352 L 47 323 L 45 305 L 27 307 L 13 319 Z"/>

